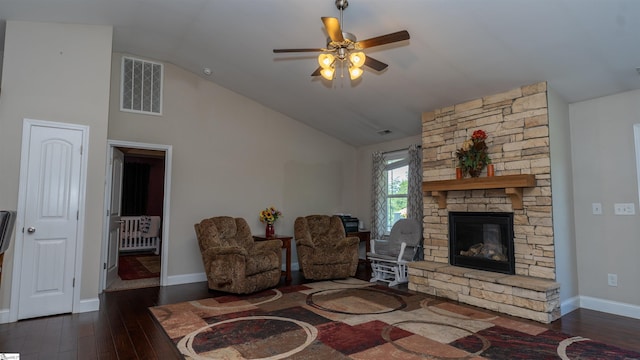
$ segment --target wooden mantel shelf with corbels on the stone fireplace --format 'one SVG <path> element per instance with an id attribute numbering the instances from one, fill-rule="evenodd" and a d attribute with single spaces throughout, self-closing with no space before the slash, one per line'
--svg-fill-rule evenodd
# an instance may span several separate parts
<path id="1" fill-rule="evenodd" d="M 536 186 L 536 177 L 532 174 L 487 176 L 469 179 L 424 181 L 422 191 L 431 193 L 438 200 L 438 207 L 446 209 L 447 191 L 504 189 L 511 198 L 514 210 L 522 209 L 522 189 Z"/>

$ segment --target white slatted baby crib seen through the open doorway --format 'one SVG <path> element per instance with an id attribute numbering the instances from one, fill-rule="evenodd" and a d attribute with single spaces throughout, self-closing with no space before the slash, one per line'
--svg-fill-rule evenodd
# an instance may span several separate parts
<path id="1" fill-rule="evenodd" d="M 120 220 L 120 251 L 160 253 L 160 216 L 122 216 Z"/>

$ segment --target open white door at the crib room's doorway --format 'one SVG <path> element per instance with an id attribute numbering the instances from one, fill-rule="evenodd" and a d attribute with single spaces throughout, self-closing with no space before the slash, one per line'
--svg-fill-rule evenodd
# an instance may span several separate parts
<path id="1" fill-rule="evenodd" d="M 107 244 L 108 288 L 118 278 L 118 249 L 120 247 L 120 217 L 122 203 L 122 174 L 124 154 L 112 148 L 111 154 L 111 200 L 109 205 L 109 243 Z"/>

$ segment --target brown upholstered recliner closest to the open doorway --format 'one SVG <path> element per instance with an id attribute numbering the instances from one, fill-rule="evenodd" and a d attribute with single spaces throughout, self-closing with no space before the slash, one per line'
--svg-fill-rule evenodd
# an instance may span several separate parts
<path id="1" fill-rule="evenodd" d="M 249 294 L 278 285 L 282 241 L 254 241 L 242 218 L 218 216 L 195 224 L 209 289 Z"/>

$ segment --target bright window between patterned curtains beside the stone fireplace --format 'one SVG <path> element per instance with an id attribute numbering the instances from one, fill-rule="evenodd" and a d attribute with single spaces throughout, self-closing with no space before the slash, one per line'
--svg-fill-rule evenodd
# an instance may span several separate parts
<path id="1" fill-rule="evenodd" d="M 385 235 L 391 232 L 393 224 L 407 217 L 409 196 L 409 161 L 406 151 L 389 154 L 385 160 L 386 177 L 386 219 Z"/>

